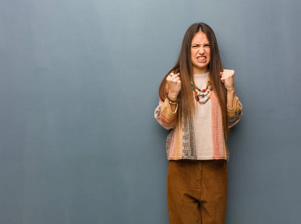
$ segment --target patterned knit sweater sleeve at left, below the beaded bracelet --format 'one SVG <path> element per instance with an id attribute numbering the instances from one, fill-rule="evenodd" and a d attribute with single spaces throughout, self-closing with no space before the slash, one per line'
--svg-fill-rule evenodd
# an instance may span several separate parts
<path id="1" fill-rule="evenodd" d="M 155 110 L 155 118 L 165 129 L 169 130 L 176 127 L 178 115 L 178 104 L 175 109 L 175 112 L 172 112 L 171 105 L 169 104 L 168 99 L 165 101 L 160 99 L 159 106 Z"/>

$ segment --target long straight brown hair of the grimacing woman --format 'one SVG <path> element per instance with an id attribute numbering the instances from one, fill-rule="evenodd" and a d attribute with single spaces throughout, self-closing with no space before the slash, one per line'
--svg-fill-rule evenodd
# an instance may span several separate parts
<path id="1" fill-rule="evenodd" d="M 192 74 L 192 63 L 191 63 L 191 41 L 193 37 L 198 33 L 203 32 L 206 34 L 207 39 L 210 44 L 210 54 L 211 61 L 208 65 L 211 85 L 215 90 L 217 95 L 219 105 L 221 107 L 222 112 L 222 120 L 223 120 L 223 129 L 226 134 L 228 134 L 228 122 L 227 122 L 227 90 L 225 85 L 222 83 L 220 79 L 220 72 L 223 71 L 222 62 L 220 59 L 220 54 L 218 50 L 217 40 L 213 30 L 204 23 L 196 23 L 191 25 L 185 33 L 183 38 L 181 51 L 178 57 L 178 60 L 175 66 L 166 74 L 164 79 L 161 82 L 159 88 L 159 96 L 162 100 L 165 100 L 166 94 L 166 78 L 171 72 L 180 72 L 182 88 L 179 93 L 179 110 L 178 110 L 178 122 L 181 125 L 182 115 L 184 117 L 184 121 L 187 120 L 188 114 L 195 112 L 195 99 L 193 95 L 193 91 L 191 89 L 191 82 L 194 82 L 194 77 Z M 183 108 L 183 114 L 182 114 Z"/>

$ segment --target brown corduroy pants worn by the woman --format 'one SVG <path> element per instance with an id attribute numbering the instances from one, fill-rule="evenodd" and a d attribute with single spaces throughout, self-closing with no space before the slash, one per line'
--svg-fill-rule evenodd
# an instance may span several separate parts
<path id="1" fill-rule="evenodd" d="M 170 223 L 224 224 L 227 184 L 226 160 L 170 160 L 167 174 Z"/>

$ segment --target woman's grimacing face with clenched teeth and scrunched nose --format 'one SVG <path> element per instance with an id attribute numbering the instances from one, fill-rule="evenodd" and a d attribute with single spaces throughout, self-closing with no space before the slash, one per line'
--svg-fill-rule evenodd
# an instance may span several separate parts
<path id="1" fill-rule="evenodd" d="M 190 56 L 193 74 L 208 72 L 210 63 L 210 45 L 207 36 L 203 32 L 195 34 L 191 41 Z"/>

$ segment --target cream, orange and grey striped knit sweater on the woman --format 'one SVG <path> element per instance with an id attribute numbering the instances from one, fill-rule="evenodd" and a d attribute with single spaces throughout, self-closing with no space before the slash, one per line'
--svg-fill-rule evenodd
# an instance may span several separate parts
<path id="1" fill-rule="evenodd" d="M 198 86 L 206 86 L 209 73 L 194 75 Z M 196 103 L 195 114 L 188 115 L 182 126 L 178 125 L 178 106 L 172 112 L 168 99 L 160 99 L 155 110 L 156 120 L 166 129 L 172 129 L 166 140 L 169 160 L 178 159 L 225 159 L 229 160 L 227 137 L 223 131 L 222 114 L 217 95 L 212 92 L 205 104 Z M 234 126 L 242 116 L 242 105 L 234 97 L 232 109 L 227 108 L 228 127 Z M 183 114 L 183 113 L 182 113 Z"/>

